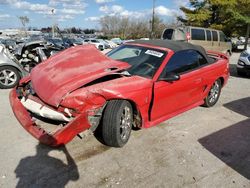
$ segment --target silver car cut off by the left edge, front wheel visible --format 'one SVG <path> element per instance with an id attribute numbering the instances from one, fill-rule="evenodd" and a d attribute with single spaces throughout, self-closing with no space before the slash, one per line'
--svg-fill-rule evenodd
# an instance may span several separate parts
<path id="1" fill-rule="evenodd" d="M 17 85 L 19 80 L 27 75 L 8 49 L 0 45 L 0 88 L 9 89 Z"/>

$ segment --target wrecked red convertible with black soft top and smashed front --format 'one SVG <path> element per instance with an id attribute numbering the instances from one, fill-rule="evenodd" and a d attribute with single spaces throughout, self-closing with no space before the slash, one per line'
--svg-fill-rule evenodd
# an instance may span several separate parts
<path id="1" fill-rule="evenodd" d="M 44 144 L 91 130 L 122 147 L 148 128 L 196 106 L 213 106 L 229 77 L 228 58 L 176 41 L 126 43 L 107 55 L 72 47 L 35 67 L 10 93 L 20 124 Z"/>

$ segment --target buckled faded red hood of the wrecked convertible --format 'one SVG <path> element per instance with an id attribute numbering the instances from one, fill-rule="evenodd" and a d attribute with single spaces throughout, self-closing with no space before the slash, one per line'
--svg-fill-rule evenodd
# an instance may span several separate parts
<path id="1" fill-rule="evenodd" d="M 75 46 L 36 66 L 31 72 L 31 83 L 44 102 L 59 106 L 72 91 L 129 66 L 108 58 L 93 45 Z"/>

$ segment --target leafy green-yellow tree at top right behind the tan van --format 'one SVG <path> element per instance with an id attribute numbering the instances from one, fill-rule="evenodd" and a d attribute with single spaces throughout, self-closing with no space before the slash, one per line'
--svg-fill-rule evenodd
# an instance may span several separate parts
<path id="1" fill-rule="evenodd" d="M 189 7 L 180 7 L 185 25 L 211 27 L 226 35 L 243 35 L 250 24 L 249 0 L 190 0 Z M 249 30 L 249 29 L 248 29 Z M 246 36 L 249 36 L 246 34 Z"/>

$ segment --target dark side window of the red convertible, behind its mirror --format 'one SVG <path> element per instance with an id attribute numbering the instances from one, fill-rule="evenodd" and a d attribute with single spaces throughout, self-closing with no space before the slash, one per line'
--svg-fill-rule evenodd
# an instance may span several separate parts
<path id="1" fill-rule="evenodd" d="M 195 50 L 180 51 L 171 57 L 161 76 L 169 73 L 181 74 L 205 64 L 207 64 L 207 60 L 199 52 Z"/>

